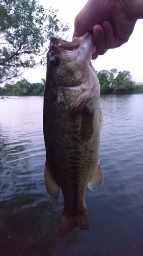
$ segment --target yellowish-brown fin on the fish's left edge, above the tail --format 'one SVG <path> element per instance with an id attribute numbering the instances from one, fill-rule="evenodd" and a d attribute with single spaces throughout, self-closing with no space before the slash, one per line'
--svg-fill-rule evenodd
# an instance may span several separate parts
<path id="1" fill-rule="evenodd" d="M 59 197 L 59 193 L 60 193 L 60 186 L 53 180 L 53 178 L 49 172 L 49 167 L 48 167 L 47 161 L 45 162 L 44 177 L 45 177 L 45 185 L 46 185 L 48 194 L 52 198 L 57 200 Z"/>

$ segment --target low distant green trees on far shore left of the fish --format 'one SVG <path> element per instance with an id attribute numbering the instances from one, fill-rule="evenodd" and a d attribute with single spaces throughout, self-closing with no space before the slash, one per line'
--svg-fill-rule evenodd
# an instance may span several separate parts
<path id="1" fill-rule="evenodd" d="M 5 84 L 5 87 L 0 88 L 0 96 L 43 96 L 45 79 L 41 83 L 30 83 L 26 79 L 22 79 L 15 84 Z"/>

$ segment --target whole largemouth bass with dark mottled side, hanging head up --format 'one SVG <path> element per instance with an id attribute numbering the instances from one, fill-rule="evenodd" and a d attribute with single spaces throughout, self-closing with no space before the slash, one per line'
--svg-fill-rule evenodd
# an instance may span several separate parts
<path id="1" fill-rule="evenodd" d="M 72 42 L 51 37 L 47 53 L 43 130 L 46 147 L 45 185 L 51 197 L 64 197 L 60 234 L 89 229 L 87 187 L 103 183 L 99 165 L 102 126 L 100 86 L 91 58 L 93 36 Z"/>

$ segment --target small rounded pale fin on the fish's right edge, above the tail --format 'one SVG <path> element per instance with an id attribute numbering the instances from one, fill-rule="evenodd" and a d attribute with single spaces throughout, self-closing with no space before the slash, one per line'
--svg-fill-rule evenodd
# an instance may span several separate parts
<path id="1" fill-rule="evenodd" d="M 88 183 L 88 188 L 92 191 L 97 190 L 103 184 L 103 173 L 100 165 L 95 170 L 95 174 L 92 177 L 91 181 Z"/>

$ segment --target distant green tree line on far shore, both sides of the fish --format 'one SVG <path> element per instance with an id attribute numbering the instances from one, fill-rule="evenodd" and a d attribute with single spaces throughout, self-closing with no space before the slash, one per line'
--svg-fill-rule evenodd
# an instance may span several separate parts
<path id="1" fill-rule="evenodd" d="M 135 86 L 129 71 L 117 69 L 102 70 L 98 73 L 101 94 L 143 93 L 143 85 Z M 0 96 L 43 96 L 45 79 L 31 83 L 22 79 L 15 84 L 6 83 L 0 87 Z"/>

